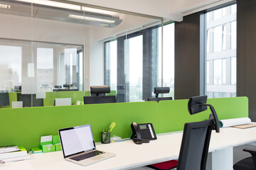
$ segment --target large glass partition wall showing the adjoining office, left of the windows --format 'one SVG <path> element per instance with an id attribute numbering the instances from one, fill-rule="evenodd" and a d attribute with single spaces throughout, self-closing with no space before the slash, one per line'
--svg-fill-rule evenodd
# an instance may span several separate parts
<path id="1" fill-rule="evenodd" d="M 142 63 L 144 42 L 150 41 L 144 39 L 146 32 L 134 33 L 156 26 L 161 18 L 72 1 L 0 0 L 0 4 L 8 6 L 0 8 L 6 21 L 0 25 L 0 91 L 5 95 L 3 100 L 0 96 L 0 108 L 54 106 L 56 98 L 82 103 L 77 101 L 90 96 L 90 86 L 110 85 L 112 94 L 122 92 L 117 93 L 122 101 L 142 101 L 148 95 L 142 94 L 149 84 L 142 80 L 148 72 Z M 150 42 L 147 49 L 154 44 Z"/>

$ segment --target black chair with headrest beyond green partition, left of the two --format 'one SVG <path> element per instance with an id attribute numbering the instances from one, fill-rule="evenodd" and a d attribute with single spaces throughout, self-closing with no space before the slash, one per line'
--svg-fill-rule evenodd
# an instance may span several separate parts
<path id="1" fill-rule="evenodd" d="M 116 103 L 115 96 L 100 96 L 100 94 L 110 93 L 110 86 L 91 86 L 90 93 L 96 96 L 84 96 L 84 104 Z"/>

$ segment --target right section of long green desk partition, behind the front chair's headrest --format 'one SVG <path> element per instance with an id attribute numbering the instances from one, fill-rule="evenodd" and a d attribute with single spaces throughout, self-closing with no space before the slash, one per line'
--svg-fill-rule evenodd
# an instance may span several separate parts
<path id="1" fill-rule="evenodd" d="M 248 117 L 248 98 L 208 98 L 218 115 L 219 120 L 229 118 Z M 183 130 L 184 124 L 202 121 L 209 118 L 210 108 L 207 111 L 190 115 L 188 100 L 160 101 L 159 102 L 159 132 Z"/>

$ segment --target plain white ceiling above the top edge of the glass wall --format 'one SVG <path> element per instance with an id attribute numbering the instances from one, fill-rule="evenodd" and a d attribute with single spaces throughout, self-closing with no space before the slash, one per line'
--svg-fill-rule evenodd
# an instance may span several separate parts
<path id="1" fill-rule="evenodd" d="M 122 11 L 159 16 L 172 21 L 182 21 L 183 16 L 232 0 L 70 0 L 83 4 L 104 6 Z"/>

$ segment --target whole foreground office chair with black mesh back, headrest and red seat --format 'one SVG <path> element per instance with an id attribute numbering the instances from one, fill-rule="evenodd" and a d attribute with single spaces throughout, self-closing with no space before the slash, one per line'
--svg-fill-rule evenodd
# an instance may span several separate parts
<path id="1" fill-rule="evenodd" d="M 218 125 L 218 116 L 215 109 L 210 104 L 206 103 L 207 96 L 196 96 L 189 98 L 188 112 L 193 115 L 207 110 L 210 107 L 210 118 L 201 122 L 186 123 L 184 125 L 183 137 L 181 142 L 181 150 L 176 160 L 164 162 L 166 166 L 159 166 L 159 164 L 152 164 L 149 167 L 153 169 L 174 169 L 177 170 L 205 170 L 206 160 L 208 156 L 208 148 L 210 144 L 211 131 L 220 132 Z M 172 163 L 172 164 L 171 164 Z M 177 163 L 177 164 L 176 164 Z M 154 166 L 154 167 L 152 167 Z"/>

